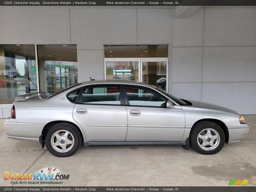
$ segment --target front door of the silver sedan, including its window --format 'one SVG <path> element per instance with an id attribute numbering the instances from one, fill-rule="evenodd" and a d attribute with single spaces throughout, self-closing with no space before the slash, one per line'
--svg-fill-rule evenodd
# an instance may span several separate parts
<path id="1" fill-rule="evenodd" d="M 181 106 L 166 108 L 166 99 L 147 87 L 126 86 L 128 116 L 125 141 L 181 141 L 185 115 Z"/>

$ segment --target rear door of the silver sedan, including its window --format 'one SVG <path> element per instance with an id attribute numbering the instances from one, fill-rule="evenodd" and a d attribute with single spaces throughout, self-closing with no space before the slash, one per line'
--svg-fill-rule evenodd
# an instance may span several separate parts
<path id="1" fill-rule="evenodd" d="M 125 141 L 127 112 L 119 85 L 86 86 L 75 104 L 73 118 L 86 141 Z"/>

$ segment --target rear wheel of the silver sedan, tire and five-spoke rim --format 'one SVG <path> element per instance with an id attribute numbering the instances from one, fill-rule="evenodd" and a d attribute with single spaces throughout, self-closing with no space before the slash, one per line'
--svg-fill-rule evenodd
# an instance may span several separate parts
<path id="1" fill-rule="evenodd" d="M 51 154 L 57 157 L 73 155 L 81 145 L 82 136 L 71 123 L 58 123 L 46 134 L 45 144 Z"/>

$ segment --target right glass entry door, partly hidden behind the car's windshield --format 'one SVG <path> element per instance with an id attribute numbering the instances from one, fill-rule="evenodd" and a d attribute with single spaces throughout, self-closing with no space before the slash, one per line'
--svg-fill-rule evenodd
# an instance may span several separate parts
<path id="1" fill-rule="evenodd" d="M 141 81 L 166 91 L 167 66 L 167 60 L 141 60 Z"/>

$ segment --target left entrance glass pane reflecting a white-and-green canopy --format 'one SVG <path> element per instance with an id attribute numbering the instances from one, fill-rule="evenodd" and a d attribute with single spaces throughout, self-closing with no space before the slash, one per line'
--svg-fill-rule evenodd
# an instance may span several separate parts
<path id="1" fill-rule="evenodd" d="M 107 80 L 131 80 L 139 79 L 139 62 L 106 62 Z"/>

